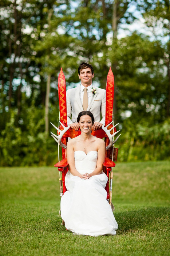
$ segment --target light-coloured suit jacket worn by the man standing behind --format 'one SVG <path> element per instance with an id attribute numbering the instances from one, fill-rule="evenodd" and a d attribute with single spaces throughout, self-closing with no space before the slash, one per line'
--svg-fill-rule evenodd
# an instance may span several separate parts
<path id="1" fill-rule="evenodd" d="M 83 106 L 80 101 L 80 85 L 68 89 L 66 91 L 67 97 L 67 124 L 75 123 L 78 114 L 83 111 Z M 88 105 L 87 110 L 91 111 L 94 115 L 95 122 L 105 124 L 105 112 L 106 112 L 106 90 L 96 88 L 94 97 L 91 98 L 91 102 Z M 102 112 L 102 120 L 100 121 L 100 112 Z"/>

